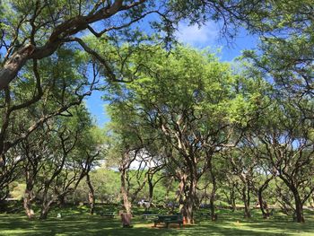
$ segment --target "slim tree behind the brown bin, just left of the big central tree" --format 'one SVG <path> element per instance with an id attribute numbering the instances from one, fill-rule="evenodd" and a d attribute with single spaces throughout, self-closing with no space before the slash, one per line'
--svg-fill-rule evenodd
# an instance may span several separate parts
<path id="1" fill-rule="evenodd" d="M 145 136 L 132 110 L 122 104 L 109 109 L 111 123 L 109 123 L 109 165 L 118 167 L 120 172 L 120 193 L 126 213 L 131 213 L 132 203 L 138 192 L 144 188 L 145 180 L 137 178 L 138 187 L 131 194 L 130 168 L 137 157 L 144 152 Z M 127 119 L 127 121 L 126 121 Z M 133 197 L 132 197 L 133 196 Z"/>

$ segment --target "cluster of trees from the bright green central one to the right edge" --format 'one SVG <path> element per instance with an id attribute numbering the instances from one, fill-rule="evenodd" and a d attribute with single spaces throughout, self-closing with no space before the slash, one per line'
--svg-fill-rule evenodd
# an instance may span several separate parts
<path id="1" fill-rule="evenodd" d="M 254 193 L 268 217 L 263 193 L 270 181 L 277 181 L 278 191 L 285 186 L 292 196 L 286 193 L 278 200 L 303 221 L 302 207 L 314 190 L 310 98 L 278 91 L 250 66 L 232 73 L 231 66 L 206 51 L 178 46 L 169 55 L 159 47 L 143 48 L 130 64 L 136 81 L 108 94 L 110 135 L 121 142 L 113 144 L 121 147 L 121 173 L 137 156 L 155 160 L 154 168 L 178 181 L 188 223 L 203 178 L 211 185 L 213 220 L 215 193 L 223 182 L 240 188 L 245 216 L 250 216 Z M 132 68 L 138 61 L 145 66 Z"/>

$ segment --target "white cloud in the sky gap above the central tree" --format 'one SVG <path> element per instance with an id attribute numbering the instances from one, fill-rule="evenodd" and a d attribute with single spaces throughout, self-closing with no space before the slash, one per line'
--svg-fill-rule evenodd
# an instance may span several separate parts
<path id="1" fill-rule="evenodd" d="M 180 22 L 176 33 L 177 39 L 185 44 L 197 48 L 213 46 L 218 39 L 219 30 L 214 22 L 207 22 L 205 25 L 188 25 L 186 22 Z"/>

